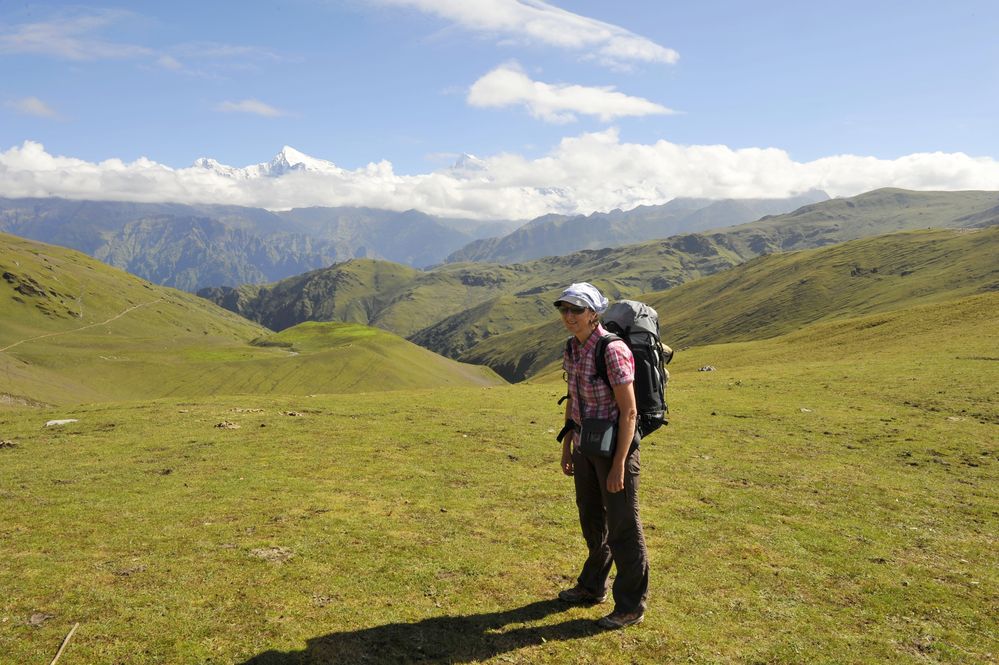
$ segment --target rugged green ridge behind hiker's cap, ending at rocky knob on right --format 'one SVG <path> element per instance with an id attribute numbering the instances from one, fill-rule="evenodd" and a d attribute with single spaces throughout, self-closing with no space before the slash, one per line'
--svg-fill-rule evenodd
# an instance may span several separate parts
<path id="1" fill-rule="evenodd" d="M 595 275 L 590 280 L 618 298 L 710 275 L 743 259 L 712 238 L 689 235 L 510 266 L 416 271 L 354 259 L 264 287 L 199 295 L 272 329 L 307 320 L 365 323 L 455 357 L 485 337 L 544 321 L 552 300 L 580 275 Z"/>

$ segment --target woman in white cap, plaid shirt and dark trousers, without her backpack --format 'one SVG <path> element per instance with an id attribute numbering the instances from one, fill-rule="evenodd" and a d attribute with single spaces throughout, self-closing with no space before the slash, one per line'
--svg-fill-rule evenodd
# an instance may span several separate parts
<path id="1" fill-rule="evenodd" d="M 624 342 L 613 341 L 604 354 L 610 386 L 596 376 L 597 341 L 608 334 L 599 319 L 607 308 L 607 299 L 592 284 L 570 285 L 555 301 L 555 307 L 572 335 L 563 358 L 569 382 L 565 410 L 569 429 L 562 442 L 562 472 L 575 480 L 579 523 L 589 548 L 576 586 L 558 597 L 574 604 L 604 602 L 613 562 L 617 567 L 614 611 L 598 624 L 602 628 L 623 628 L 645 618 L 649 588 L 648 554 L 638 514 L 635 360 Z M 612 457 L 580 450 L 578 423 L 584 418 L 617 423 Z"/>

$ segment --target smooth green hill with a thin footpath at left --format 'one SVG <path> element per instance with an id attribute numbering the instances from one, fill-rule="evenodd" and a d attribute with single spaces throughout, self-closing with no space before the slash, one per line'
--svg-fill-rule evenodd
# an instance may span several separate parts
<path id="1" fill-rule="evenodd" d="M 271 332 L 78 252 L 0 235 L 0 400 L 311 394 L 500 383 L 351 325 Z M 255 344 L 251 344 L 255 341 Z"/>

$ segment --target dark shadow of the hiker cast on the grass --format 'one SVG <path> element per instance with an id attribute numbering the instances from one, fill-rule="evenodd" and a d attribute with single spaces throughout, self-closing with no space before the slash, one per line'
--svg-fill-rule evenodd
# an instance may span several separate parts
<path id="1" fill-rule="evenodd" d="M 266 651 L 241 665 L 353 665 L 355 663 L 470 663 L 517 649 L 603 632 L 594 619 L 545 626 L 517 626 L 563 612 L 569 606 L 545 600 L 505 612 L 442 616 L 414 623 L 330 633 L 301 651 Z M 503 630 L 506 626 L 514 627 Z"/>

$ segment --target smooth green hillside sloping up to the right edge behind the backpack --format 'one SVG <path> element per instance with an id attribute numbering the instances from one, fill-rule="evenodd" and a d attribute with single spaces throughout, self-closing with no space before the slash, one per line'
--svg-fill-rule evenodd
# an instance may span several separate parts
<path id="1" fill-rule="evenodd" d="M 844 316 L 999 289 L 999 227 L 916 231 L 772 254 L 643 299 L 674 348 L 773 337 Z M 561 322 L 489 338 L 461 356 L 521 380 L 556 362 Z"/>

